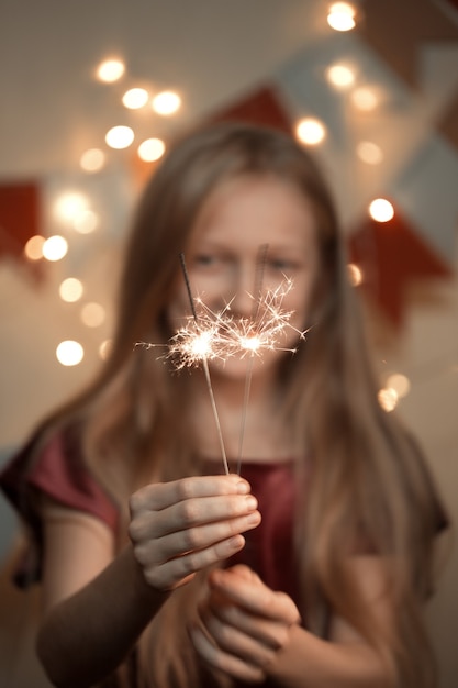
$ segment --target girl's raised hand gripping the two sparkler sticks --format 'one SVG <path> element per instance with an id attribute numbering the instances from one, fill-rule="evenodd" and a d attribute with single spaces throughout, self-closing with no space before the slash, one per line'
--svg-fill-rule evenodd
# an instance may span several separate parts
<path id="1" fill-rule="evenodd" d="M 134 556 L 145 580 L 170 590 L 245 544 L 260 522 L 249 485 L 236 475 L 147 485 L 130 500 Z"/>

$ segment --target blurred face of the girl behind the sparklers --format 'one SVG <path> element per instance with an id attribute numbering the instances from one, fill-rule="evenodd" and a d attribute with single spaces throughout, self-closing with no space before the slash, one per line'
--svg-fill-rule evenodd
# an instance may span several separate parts
<path id="1" fill-rule="evenodd" d="M 267 373 L 290 355 L 286 349 L 295 348 L 319 269 L 315 233 L 308 201 L 278 178 L 237 178 L 210 197 L 186 253 L 198 323 L 214 323 L 224 311 L 237 336 L 246 335 L 241 348 L 210 357 L 212 369 L 245 376 L 247 358 L 254 356 L 254 373 Z M 169 310 L 175 329 L 191 312 L 182 276 L 178 285 Z M 224 324 L 215 332 L 227 335 Z"/>

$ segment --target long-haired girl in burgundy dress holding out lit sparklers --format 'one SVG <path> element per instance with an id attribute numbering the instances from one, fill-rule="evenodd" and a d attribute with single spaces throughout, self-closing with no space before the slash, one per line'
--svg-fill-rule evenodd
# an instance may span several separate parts
<path id="1" fill-rule="evenodd" d="M 275 347 L 209 362 L 221 435 L 201 366 L 134 348 L 190 314 L 180 253 L 198 321 L 230 304 L 257 322 L 291 285 Z M 175 146 L 138 206 L 109 362 L 2 484 L 32 526 L 56 686 L 434 685 L 442 506 L 378 404 L 329 192 L 284 134 Z"/>

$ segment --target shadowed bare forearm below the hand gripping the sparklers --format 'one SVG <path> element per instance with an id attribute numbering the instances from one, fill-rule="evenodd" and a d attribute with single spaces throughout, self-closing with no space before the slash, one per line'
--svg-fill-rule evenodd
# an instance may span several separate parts
<path id="1" fill-rule="evenodd" d="M 43 621 L 38 656 L 56 686 L 85 688 L 113 672 L 159 611 L 167 593 L 143 579 L 131 547 Z"/>

